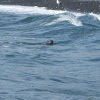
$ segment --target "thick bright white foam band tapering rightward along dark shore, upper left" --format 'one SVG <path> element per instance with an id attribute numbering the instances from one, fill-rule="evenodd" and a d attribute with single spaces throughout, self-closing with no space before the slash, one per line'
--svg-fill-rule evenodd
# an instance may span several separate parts
<path id="1" fill-rule="evenodd" d="M 15 14 L 46 14 L 54 15 L 64 13 L 65 11 L 47 10 L 44 7 L 29 7 L 29 6 L 13 6 L 13 5 L 0 5 L 0 12 L 15 13 Z"/>

